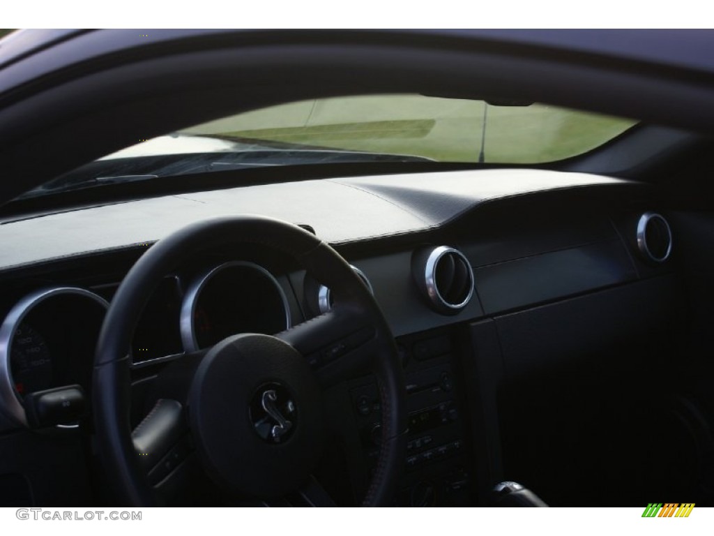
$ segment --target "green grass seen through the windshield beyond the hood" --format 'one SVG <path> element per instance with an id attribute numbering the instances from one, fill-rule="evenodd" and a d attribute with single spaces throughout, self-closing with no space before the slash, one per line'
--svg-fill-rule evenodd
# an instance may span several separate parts
<path id="1" fill-rule="evenodd" d="M 533 104 L 421 95 L 338 97 L 273 106 L 186 129 L 311 147 L 478 162 L 486 111 L 485 161 L 553 162 L 588 152 L 636 121 Z"/>

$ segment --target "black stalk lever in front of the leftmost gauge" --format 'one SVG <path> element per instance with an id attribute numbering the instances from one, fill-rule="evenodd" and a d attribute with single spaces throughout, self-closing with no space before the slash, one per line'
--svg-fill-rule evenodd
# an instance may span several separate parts
<path id="1" fill-rule="evenodd" d="M 31 427 L 66 425 L 84 415 L 84 390 L 79 385 L 57 387 L 25 397 L 28 424 Z"/>

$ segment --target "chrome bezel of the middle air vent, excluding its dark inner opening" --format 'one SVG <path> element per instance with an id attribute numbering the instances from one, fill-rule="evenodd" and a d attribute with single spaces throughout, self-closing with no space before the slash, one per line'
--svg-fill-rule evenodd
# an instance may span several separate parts
<path id="1" fill-rule="evenodd" d="M 458 303 L 448 302 L 441 294 L 436 282 L 438 264 L 447 255 L 458 257 L 468 270 L 468 292 L 466 297 Z M 471 262 L 461 251 L 451 246 L 433 247 L 418 252 L 413 262 L 413 273 L 417 285 L 428 303 L 437 312 L 441 314 L 458 314 L 471 302 L 473 294 L 476 292 L 476 278 L 473 275 Z"/>

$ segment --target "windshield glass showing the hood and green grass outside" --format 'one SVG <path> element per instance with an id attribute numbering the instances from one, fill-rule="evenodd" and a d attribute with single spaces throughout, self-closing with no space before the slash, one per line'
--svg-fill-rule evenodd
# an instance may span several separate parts
<path id="1" fill-rule="evenodd" d="M 23 197 L 263 166 L 337 162 L 543 164 L 589 152 L 636 121 L 545 104 L 418 94 L 311 99 L 148 139 Z"/>

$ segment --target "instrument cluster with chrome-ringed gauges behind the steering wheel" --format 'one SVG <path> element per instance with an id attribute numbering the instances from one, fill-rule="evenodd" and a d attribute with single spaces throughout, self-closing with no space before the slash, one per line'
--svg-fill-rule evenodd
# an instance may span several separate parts
<path id="1" fill-rule="evenodd" d="M 127 353 L 133 367 L 176 359 L 238 333 L 291 326 L 287 277 L 253 262 L 170 274 L 154 289 Z M 119 283 L 48 286 L 19 299 L 0 324 L 0 411 L 26 427 L 77 426 L 88 415 L 94 351 Z"/>

